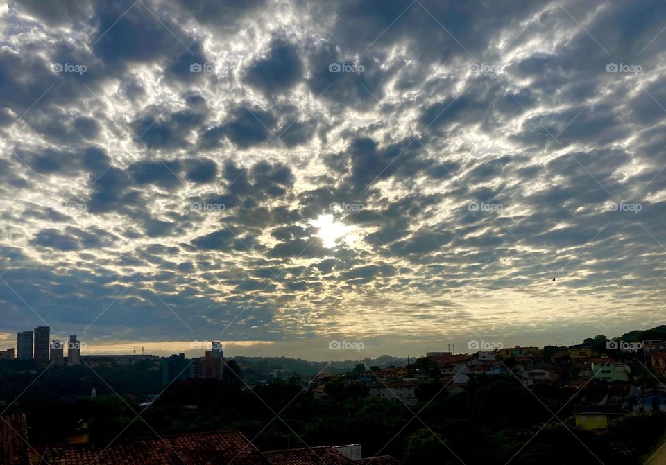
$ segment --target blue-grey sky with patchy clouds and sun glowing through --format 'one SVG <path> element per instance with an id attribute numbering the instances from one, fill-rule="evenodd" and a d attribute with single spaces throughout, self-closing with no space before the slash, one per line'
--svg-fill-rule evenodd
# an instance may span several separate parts
<path id="1" fill-rule="evenodd" d="M 0 41 L 1 348 L 663 323 L 663 1 L 10 0 Z"/>

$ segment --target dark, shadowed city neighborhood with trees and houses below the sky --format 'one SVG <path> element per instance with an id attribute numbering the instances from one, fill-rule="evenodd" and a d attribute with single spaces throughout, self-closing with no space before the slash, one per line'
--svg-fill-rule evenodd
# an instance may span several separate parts
<path id="1" fill-rule="evenodd" d="M 666 326 L 345 362 L 216 343 L 192 359 L 75 356 L 1 359 L 0 465 L 652 465 L 666 441 Z"/>

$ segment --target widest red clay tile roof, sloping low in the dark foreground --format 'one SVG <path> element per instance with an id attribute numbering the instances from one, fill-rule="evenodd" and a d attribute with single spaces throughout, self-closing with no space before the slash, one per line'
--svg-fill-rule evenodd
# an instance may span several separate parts
<path id="1" fill-rule="evenodd" d="M 240 431 L 133 439 L 107 444 L 47 446 L 49 465 L 239 465 L 268 464 Z"/>

